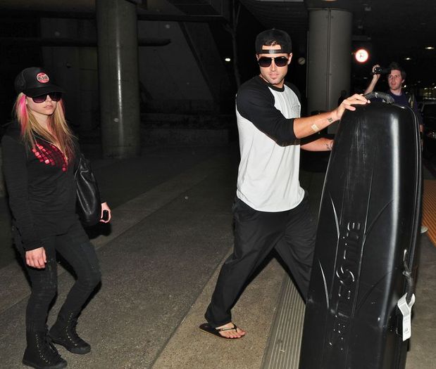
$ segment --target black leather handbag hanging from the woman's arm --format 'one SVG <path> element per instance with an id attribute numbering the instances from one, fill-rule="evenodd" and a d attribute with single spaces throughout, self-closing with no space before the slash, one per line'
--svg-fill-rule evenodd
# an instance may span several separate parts
<path id="1" fill-rule="evenodd" d="M 77 188 L 76 212 L 83 226 L 94 226 L 99 223 L 101 217 L 100 193 L 91 164 L 82 153 L 74 177 Z"/>

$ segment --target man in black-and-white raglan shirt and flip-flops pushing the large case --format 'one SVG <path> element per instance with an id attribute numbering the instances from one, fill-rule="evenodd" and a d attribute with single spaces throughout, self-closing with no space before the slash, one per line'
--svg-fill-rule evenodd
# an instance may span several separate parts
<path id="1" fill-rule="evenodd" d="M 345 110 L 355 110 L 352 104 L 367 103 L 354 95 L 331 112 L 300 118 L 299 93 L 284 80 L 292 59 L 289 34 L 266 30 L 255 44 L 260 74 L 245 82 L 236 97 L 241 162 L 232 208 L 235 248 L 218 276 L 205 314 L 208 323 L 200 325 L 204 332 L 225 339 L 245 335 L 232 323 L 230 309 L 273 248 L 306 297 L 316 228 L 299 185 L 299 150 L 331 150 L 332 140 L 301 144 L 300 139 L 339 120 Z"/>

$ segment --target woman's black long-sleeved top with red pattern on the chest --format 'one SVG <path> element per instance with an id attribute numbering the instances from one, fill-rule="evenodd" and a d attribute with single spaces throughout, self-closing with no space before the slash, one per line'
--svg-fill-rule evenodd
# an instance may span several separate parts
<path id="1" fill-rule="evenodd" d="M 37 148 L 26 148 L 18 122 L 10 124 L 1 139 L 4 179 L 13 225 L 25 250 L 42 247 L 42 239 L 66 233 L 77 220 L 74 170 L 53 143 L 36 137 Z"/>

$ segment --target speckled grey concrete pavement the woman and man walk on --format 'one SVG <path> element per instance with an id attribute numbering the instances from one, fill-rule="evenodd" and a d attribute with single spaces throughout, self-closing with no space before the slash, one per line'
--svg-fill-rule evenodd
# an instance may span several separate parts
<path id="1" fill-rule="evenodd" d="M 235 306 L 235 322 L 247 337 L 227 342 L 197 329 L 232 247 L 237 160 L 233 145 L 148 148 L 137 160 L 94 159 L 114 218 L 110 228 L 93 232 L 103 283 L 78 325 L 92 352 L 60 349 L 68 368 L 260 368 L 285 277 L 275 259 Z M 302 172 L 314 212 L 322 181 L 322 171 Z M 436 362 L 436 248 L 425 235 L 421 250 L 407 369 L 431 369 Z M 59 272 L 49 323 L 73 283 L 63 268 Z M 23 368 L 28 292 L 15 260 L 0 268 L 0 368 Z"/>

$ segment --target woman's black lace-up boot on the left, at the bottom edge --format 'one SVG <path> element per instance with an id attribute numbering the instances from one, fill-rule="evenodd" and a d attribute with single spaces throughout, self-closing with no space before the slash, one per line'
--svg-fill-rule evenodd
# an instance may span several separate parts
<path id="1" fill-rule="evenodd" d="M 61 358 L 53 346 L 47 332 L 26 332 L 27 347 L 24 351 L 23 364 L 37 369 L 61 369 L 67 362 Z"/>

